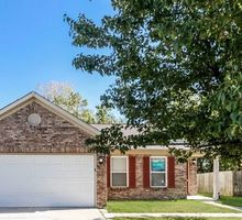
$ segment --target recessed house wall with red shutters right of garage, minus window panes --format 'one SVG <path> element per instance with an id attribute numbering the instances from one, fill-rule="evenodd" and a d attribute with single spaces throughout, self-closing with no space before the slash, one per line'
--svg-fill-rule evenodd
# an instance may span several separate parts
<path id="1" fill-rule="evenodd" d="M 111 155 L 118 156 L 119 153 Z M 145 160 L 152 156 L 167 157 L 167 186 L 165 187 L 152 187 L 147 177 L 150 174 L 145 168 Z M 134 170 L 129 170 L 128 187 L 112 187 L 110 185 L 110 179 L 108 182 L 108 199 L 119 200 L 119 199 L 183 199 L 187 195 L 197 194 L 197 166 L 191 160 L 188 163 L 178 163 L 175 158 L 170 157 L 166 150 L 139 150 L 128 152 L 127 157 L 133 157 L 134 160 Z M 170 158 L 170 160 L 169 160 Z M 110 163 L 107 160 L 107 163 Z M 145 170 L 146 169 L 146 170 Z M 189 173 L 187 172 L 189 169 Z M 110 173 L 110 167 L 108 165 L 108 174 Z M 189 174 L 189 175 L 188 175 Z M 108 175 L 107 178 L 111 178 Z"/>

